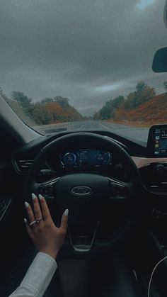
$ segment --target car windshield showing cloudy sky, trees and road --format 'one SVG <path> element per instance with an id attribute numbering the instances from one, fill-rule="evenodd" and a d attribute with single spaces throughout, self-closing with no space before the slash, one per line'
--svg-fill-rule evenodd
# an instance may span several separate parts
<path id="1" fill-rule="evenodd" d="M 1 1 L 0 93 L 42 134 L 110 130 L 146 140 L 166 123 L 165 0 Z"/>

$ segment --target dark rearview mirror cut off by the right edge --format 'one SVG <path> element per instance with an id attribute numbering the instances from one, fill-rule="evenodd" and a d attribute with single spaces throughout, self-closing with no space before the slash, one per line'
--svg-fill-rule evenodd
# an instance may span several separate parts
<path id="1" fill-rule="evenodd" d="M 167 47 L 157 50 L 154 55 L 152 69 L 154 72 L 167 72 Z"/>

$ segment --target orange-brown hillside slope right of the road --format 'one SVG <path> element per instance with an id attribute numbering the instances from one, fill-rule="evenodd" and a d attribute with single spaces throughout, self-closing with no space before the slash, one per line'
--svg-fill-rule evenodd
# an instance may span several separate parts
<path id="1" fill-rule="evenodd" d="M 154 96 L 149 101 L 129 110 L 120 106 L 115 110 L 114 121 L 148 125 L 167 123 L 167 93 Z"/>

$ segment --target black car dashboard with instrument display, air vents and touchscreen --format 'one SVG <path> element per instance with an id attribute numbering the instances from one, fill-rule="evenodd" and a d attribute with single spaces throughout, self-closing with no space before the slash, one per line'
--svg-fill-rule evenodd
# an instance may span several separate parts
<path id="1" fill-rule="evenodd" d="M 76 133 L 73 131 L 72 133 Z M 157 224 L 164 220 L 167 213 L 167 125 L 156 125 L 149 130 L 148 142 L 139 142 L 116 135 L 110 131 L 84 131 L 108 137 L 116 141 L 131 155 L 142 177 L 145 191 L 145 200 L 149 201 L 149 215 Z M 19 147 L 13 152 L 13 168 L 18 175 L 18 183 L 25 176 L 33 160 L 45 145 L 71 132 L 57 133 L 50 137 L 41 137 L 28 145 Z M 159 140 L 159 142 L 157 142 Z M 159 145 L 159 147 L 157 146 Z M 157 153 L 159 150 L 159 153 Z M 127 181 L 126 168 L 123 168 L 117 155 L 108 150 L 92 148 L 89 144 L 84 147 L 77 145 L 77 150 L 54 152 L 50 158 L 42 164 L 39 181 L 49 182 L 55 177 L 73 174 L 77 172 L 92 172 Z M 16 181 L 17 182 L 17 181 Z M 51 203 L 51 202 L 50 202 Z M 116 203 L 116 202 L 115 202 Z M 118 202 L 117 202 L 118 203 Z M 120 208 L 119 204 L 119 208 Z M 166 220 L 167 223 L 167 220 Z M 157 226 L 157 225 L 156 225 Z M 161 226 L 161 230 L 163 227 Z M 167 240 L 167 239 L 166 239 Z M 163 242 L 163 240 L 162 240 Z"/>

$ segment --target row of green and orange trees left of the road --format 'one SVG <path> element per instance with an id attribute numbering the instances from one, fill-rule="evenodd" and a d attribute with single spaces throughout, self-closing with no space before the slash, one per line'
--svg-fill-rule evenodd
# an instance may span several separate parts
<path id="1" fill-rule="evenodd" d="M 8 101 L 10 101 L 13 110 L 19 113 L 21 118 L 26 118 L 26 121 L 27 119 L 28 121 L 33 120 L 37 125 L 80 121 L 82 119 L 81 114 L 69 105 L 69 99 L 62 96 L 56 96 L 54 99 L 45 97 L 40 102 L 33 103 L 32 99 L 28 98 L 22 91 L 13 91 L 11 98 Z"/>

